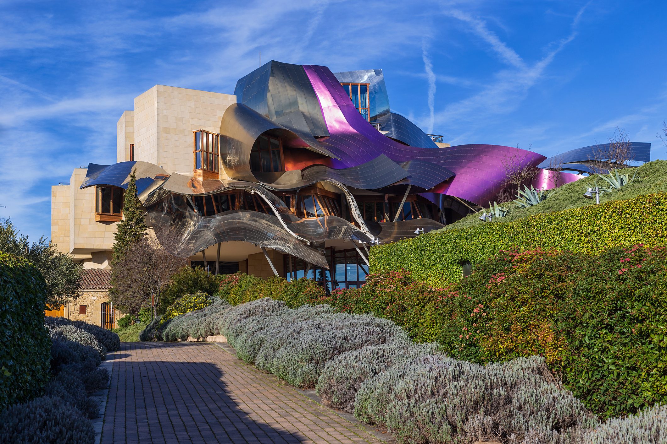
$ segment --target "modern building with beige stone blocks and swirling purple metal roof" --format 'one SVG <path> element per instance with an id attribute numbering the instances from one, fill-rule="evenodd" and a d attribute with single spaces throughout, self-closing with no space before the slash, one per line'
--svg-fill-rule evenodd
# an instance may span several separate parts
<path id="1" fill-rule="evenodd" d="M 583 155 L 550 169 L 532 151 L 449 146 L 391 111 L 381 70 L 271 61 L 233 95 L 163 85 L 139 95 L 118 120 L 117 163 L 53 186 L 51 239 L 84 268 L 109 268 L 134 170 L 147 224 L 168 226 L 193 265 L 358 287 L 369 248 L 488 207 L 503 165 L 536 168 L 530 183 L 553 188 L 582 177 L 564 164 Z"/>

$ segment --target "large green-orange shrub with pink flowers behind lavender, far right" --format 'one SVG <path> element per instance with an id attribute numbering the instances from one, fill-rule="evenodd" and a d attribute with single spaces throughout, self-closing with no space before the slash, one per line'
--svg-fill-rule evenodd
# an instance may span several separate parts
<path id="1" fill-rule="evenodd" d="M 478 363 L 542 355 L 603 417 L 667 401 L 667 250 L 502 252 L 458 286 L 440 343 Z"/>

